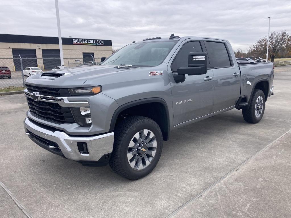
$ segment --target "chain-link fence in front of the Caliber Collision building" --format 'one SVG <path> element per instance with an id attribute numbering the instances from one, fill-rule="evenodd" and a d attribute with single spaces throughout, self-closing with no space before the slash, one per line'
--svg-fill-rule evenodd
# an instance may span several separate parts
<path id="1" fill-rule="evenodd" d="M 64 58 L 65 67 L 97 65 L 101 57 Z M 45 71 L 60 69 L 60 58 L 0 58 L 0 89 L 24 87 L 28 76 Z M 1 91 L 1 90 L 0 90 Z"/>

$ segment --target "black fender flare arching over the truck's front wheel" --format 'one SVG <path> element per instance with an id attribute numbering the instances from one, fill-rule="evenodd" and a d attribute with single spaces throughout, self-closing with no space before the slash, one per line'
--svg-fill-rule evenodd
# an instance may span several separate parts
<path id="1" fill-rule="evenodd" d="M 111 123 L 110 123 L 110 129 L 109 131 L 113 131 L 115 124 L 116 124 L 116 120 L 118 118 L 118 115 L 120 114 L 120 112 L 122 112 L 123 110 L 127 109 L 127 108 L 131 108 L 133 106 L 137 106 L 137 105 L 141 105 L 141 104 L 145 104 L 145 103 L 162 103 L 166 109 L 166 116 L 167 116 L 167 124 L 168 124 L 168 133 L 170 132 L 170 116 L 169 116 L 169 110 L 168 110 L 168 106 L 167 103 L 164 99 L 162 98 L 146 98 L 146 99 L 139 99 L 136 101 L 131 101 L 128 103 L 125 103 L 121 106 L 119 106 L 115 112 L 113 113 L 113 116 L 111 118 Z"/>

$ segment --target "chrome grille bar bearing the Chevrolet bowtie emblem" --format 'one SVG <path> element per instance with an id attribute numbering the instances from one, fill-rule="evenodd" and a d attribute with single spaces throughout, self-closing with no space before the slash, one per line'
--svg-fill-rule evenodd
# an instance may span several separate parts
<path id="1" fill-rule="evenodd" d="M 88 107 L 88 101 L 69 101 L 68 97 L 52 97 L 40 95 L 39 92 L 30 93 L 27 89 L 24 90 L 24 95 L 28 98 L 33 99 L 34 101 L 45 101 L 58 103 L 62 107 Z"/>

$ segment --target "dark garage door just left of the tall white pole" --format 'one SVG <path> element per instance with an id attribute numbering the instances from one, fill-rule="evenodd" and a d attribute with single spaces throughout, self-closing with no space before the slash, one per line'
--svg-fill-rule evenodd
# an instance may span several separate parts
<path id="1" fill-rule="evenodd" d="M 51 70 L 61 66 L 59 49 L 42 49 L 42 58 L 45 70 Z"/>

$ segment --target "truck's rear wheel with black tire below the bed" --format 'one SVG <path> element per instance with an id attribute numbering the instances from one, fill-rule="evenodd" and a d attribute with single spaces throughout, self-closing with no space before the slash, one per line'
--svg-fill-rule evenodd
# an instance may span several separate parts
<path id="1" fill-rule="evenodd" d="M 265 94 L 260 89 L 255 89 L 248 109 L 242 109 L 244 120 L 249 123 L 258 123 L 265 111 Z"/>

